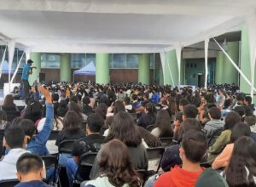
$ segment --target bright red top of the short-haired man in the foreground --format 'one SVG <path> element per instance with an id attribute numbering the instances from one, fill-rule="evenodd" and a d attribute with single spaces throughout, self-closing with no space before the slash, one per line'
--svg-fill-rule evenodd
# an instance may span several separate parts
<path id="1" fill-rule="evenodd" d="M 176 166 L 170 172 L 160 175 L 154 187 L 194 187 L 203 170 L 201 168 L 198 172 L 189 172 Z"/>

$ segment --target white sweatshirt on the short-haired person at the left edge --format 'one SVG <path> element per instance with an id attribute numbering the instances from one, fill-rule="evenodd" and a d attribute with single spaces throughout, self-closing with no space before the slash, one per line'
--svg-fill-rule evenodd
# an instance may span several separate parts
<path id="1" fill-rule="evenodd" d="M 9 153 L 3 157 L 3 161 L 0 161 L 0 180 L 17 178 L 16 162 L 26 152 L 29 151 L 21 148 L 9 150 Z"/>

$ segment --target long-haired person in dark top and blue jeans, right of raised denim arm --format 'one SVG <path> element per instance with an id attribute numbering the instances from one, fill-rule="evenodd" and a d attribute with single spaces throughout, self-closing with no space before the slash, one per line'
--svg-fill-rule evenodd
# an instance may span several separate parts
<path id="1" fill-rule="evenodd" d="M 84 138 L 84 130 L 81 129 L 81 120 L 78 113 L 75 111 L 67 111 L 63 119 L 63 130 L 60 131 L 55 144 L 59 147 L 64 140 L 76 140 Z M 59 163 L 66 166 L 67 159 L 71 158 L 71 154 L 63 153 L 59 158 Z"/>

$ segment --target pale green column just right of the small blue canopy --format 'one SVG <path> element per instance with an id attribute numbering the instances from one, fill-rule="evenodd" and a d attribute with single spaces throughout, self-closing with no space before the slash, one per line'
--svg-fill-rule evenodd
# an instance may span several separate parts
<path id="1" fill-rule="evenodd" d="M 96 54 L 96 83 L 109 83 L 109 54 Z"/>

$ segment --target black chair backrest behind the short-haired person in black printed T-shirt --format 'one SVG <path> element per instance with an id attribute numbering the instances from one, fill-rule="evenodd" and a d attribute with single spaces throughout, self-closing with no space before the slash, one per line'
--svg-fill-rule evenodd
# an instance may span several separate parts
<path id="1" fill-rule="evenodd" d="M 90 179 L 90 170 L 95 162 L 96 156 L 96 152 L 84 153 L 80 156 L 78 173 L 83 180 Z"/>

